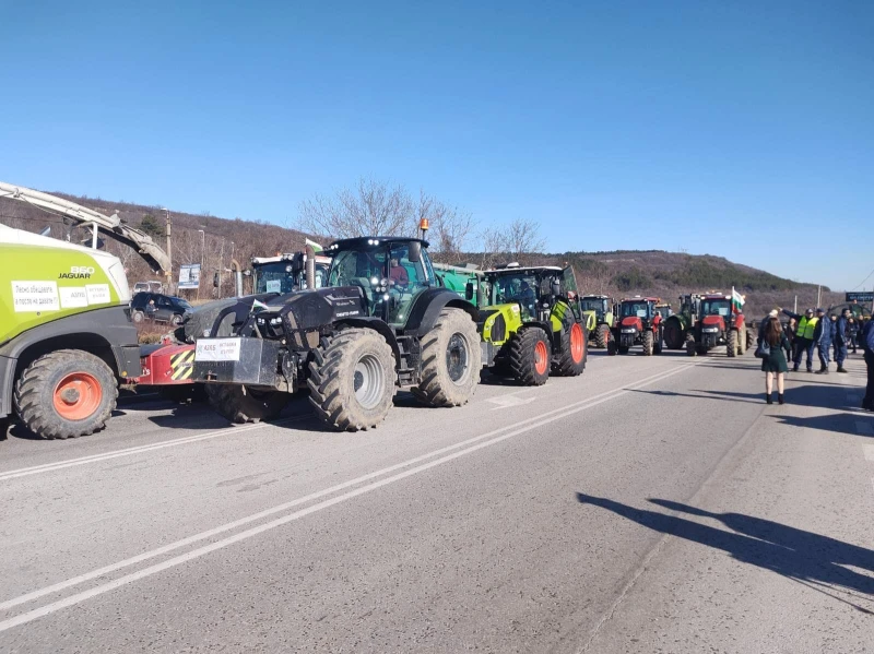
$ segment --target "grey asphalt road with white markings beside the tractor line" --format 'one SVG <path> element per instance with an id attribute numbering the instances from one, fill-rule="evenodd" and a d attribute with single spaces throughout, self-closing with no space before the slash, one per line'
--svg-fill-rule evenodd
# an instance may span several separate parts
<path id="1" fill-rule="evenodd" d="M 323 431 L 122 406 L 0 442 L 2 652 L 874 652 L 874 417 L 606 357 Z"/>

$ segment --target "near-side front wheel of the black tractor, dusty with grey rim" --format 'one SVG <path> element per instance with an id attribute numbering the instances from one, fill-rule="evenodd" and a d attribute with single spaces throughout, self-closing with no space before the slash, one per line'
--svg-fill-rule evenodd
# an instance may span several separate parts
<path id="1" fill-rule="evenodd" d="M 309 364 L 309 403 L 341 431 L 376 427 L 394 397 L 394 355 L 381 334 L 347 329 L 322 338 Z"/>

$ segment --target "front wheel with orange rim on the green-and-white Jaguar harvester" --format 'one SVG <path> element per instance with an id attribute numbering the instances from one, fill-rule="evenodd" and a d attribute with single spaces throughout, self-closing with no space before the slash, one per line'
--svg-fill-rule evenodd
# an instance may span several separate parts
<path id="1" fill-rule="evenodd" d="M 15 384 L 15 411 L 42 438 L 74 438 L 103 429 L 118 399 L 106 362 L 81 349 L 59 349 L 31 364 Z"/>

